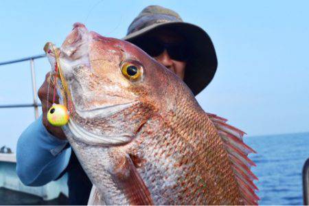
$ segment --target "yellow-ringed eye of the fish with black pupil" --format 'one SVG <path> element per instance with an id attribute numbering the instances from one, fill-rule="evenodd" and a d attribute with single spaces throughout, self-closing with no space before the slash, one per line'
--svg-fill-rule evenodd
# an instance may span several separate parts
<path id="1" fill-rule="evenodd" d="M 128 80 L 138 80 L 142 74 L 142 66 L 139 62 L 134 60 L 129 60 L 122 63 L 122 74 Z"/>

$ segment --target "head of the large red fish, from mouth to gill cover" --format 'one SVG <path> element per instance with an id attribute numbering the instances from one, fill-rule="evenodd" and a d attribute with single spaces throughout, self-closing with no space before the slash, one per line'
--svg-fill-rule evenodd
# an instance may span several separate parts
<path id="1" fill-rule="evenodd" d="M 89 32 L 81 23 L 73 25 L 59 49 L 47 43 L 45 52 L 52 68 L 58 62 L 62 71 L 58 95 L 71 113 L 65 130 L 82 134 L 79 139 L 88 144 L 132 140 L 148 114 L 167 117 L 176 106 L 176 87 L 184 88 L 139 47 Z"/>

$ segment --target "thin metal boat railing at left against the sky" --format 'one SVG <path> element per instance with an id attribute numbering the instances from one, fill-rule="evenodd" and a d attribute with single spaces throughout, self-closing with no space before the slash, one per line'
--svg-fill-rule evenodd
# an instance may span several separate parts
<path id="1" fill-rule="evenodd" d="M 34 60 L 38 58 L 45 57 L 45 54 L 30 56 L 26 58 L 20 58 L 16 60 L 10 60 L 6 62 L 0 62 L 0 66 L 3 65 L 11 65 L 17 62 L 30 61 L 30 72 L 31 72 L 31 81 L 32 81 L 32 95 L 33 95 L 33 103 L 32 104 L 0 104 L 0 108 L 19 108 L 19 107 L 33 107 L 34 108 L 34 117 L 38 118 L 38 106 L 42 106 L 38 103 L 38 95 L 36 90 L 36 73 L 34 68 Z"/>

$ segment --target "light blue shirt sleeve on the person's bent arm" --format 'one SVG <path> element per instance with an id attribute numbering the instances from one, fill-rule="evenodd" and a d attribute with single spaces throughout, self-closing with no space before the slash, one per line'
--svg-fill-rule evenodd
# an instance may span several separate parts
<path id="1" fill-rule="evenodd" d="M 16 146 L 16 173 L 30 186 L 41 186 L 56 179 L 69 163 L 71 148 L 67 140 L 51 135 L 43 126 L 42 116 L 30 124 Z"/>

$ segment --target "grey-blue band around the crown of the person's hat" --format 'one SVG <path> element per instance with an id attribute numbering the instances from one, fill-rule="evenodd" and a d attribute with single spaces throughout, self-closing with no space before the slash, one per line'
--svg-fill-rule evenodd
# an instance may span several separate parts
<path id="1" fill-rule="evenodd" d="M 131 23 L 131 25 L 128 27 L 128 33 L 126 35 L 144 29 L 144 27 L 164 22 L 182 22 L 182 21 L 181 19 L 178 19 L 176 16 L 170 16 L 167 14 L 154 14 L 154 15 L 141 16 L 139 19 L 136 19 L 135 21 L 133 21 L 133 23 Z"/>

